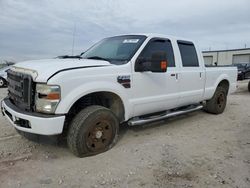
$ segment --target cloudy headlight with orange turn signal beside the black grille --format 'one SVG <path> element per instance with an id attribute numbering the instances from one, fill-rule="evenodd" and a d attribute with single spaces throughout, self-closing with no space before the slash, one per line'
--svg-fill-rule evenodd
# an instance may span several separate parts
<path id="1" fill-rule="evenodd" d="M 59 86 L 37 84 L 36 85 L 36 111 L 53 114 L 61 99 Z"/>

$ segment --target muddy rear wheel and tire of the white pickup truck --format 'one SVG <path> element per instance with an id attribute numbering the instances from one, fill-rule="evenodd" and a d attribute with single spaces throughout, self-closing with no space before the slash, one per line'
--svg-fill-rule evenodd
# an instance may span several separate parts
<path id="1" fill-rule="evenodd" d="M 206 102 L 204 110 L 212 114 L 223 113 L 227 104 L 227 92 L 224 87 L 218 86 L 212 99 Z"/>

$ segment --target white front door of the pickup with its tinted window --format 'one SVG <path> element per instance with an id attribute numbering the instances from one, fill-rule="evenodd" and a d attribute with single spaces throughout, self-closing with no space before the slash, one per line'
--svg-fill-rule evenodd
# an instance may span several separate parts
<path id="1" fill-rule="evenodd" d="M 152 54 L 165 51 L 167 54 L 166 72 L 136 72 L 133 66 L 132 87 L 134 116 L 160 112 L 175 108 L 179 100 L 178 67 L 175 63 L 172 43 L 168 39 L 153 38 L 144 47 L 137 59 L 150 59 Z"/>

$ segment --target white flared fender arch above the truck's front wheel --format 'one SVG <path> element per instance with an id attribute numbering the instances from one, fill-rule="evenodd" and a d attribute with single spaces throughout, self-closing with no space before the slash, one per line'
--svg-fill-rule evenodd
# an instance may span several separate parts
<path id="1" fill-rule="evenodd" d="M 78 99 L 94 92 L 111 92 L 118 95 L 124 105 L 125 119 L 128 119 L 127 112 L 129 112 L 129 105 L 126 92 L 124 92 L 124 88 L 122 88 L 121 85 L 110 83 L 107 81 L 85 83 L 74 88 L 73 90 L 63 91 L 63 97 L 59 105 L 57 106 L 56 114 L 67 114 L 70 108 Z"/>

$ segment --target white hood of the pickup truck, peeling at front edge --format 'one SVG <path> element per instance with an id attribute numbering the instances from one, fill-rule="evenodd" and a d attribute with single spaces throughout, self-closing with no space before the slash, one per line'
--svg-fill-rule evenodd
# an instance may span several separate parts
<path id="1" fill-rule="evenodd" d="M 43 59 L 17 63 L 12 69 L 16 72 L 32 75 L 36 82 L 47 82 L 53 74 L 62 70 L 109 65 L 112 64 L 108 61 L 94 59 Z"/>

